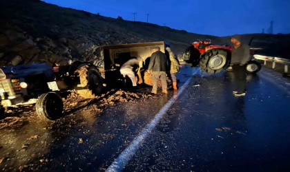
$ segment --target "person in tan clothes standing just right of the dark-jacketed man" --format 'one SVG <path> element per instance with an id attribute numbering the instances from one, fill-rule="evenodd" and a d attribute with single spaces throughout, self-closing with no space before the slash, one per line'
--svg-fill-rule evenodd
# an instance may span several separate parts
<path id="1" fill-rule="evenodd" d="M 170 60 L 170 75 L 172 80 L 173 89 L 177 90 L 177 79 L 176 73 L 180 72 L 180 63 L 176 59 L 176 55 L 171 51 L 170 47 L 166 47 L 165 49 L 169 53 Z"/>

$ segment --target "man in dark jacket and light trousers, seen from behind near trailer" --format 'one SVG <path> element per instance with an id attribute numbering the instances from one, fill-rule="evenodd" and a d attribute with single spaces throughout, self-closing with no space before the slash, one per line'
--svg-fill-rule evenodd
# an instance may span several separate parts
<path id="1" fill-rule="evenodd" d="M 152 93 L 157 94 L 158 80 L 162 82 L 162 93 L 167 94 L 167 82 L 166 71 L 168 67 L 168 61 L 166 55 L 160 51 L 160 47 L 153 48 L 153 54 L 151 55 L 148 72 L 152 71 L 153 88 Z"/>

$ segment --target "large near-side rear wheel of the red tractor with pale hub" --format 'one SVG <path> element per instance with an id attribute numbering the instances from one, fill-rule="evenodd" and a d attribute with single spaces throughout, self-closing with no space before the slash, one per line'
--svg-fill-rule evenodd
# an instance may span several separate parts
<path id="1" fill-rule="evenodd" d="M 200 59 L 200 69 L 208 74 L 222 72 L 230 63 L 230 54 L 226 50 L 213 49 L 202 54 Z"/>

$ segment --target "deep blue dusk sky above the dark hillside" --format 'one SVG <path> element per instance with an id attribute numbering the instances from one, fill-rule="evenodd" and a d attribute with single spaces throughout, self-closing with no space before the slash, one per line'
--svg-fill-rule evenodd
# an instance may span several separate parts
<path id="1" fill-rule="evenodd" d="M 166 25 L 197 34 L 290 33 L 290 0 L 43 0 L 106 17 Z"/>

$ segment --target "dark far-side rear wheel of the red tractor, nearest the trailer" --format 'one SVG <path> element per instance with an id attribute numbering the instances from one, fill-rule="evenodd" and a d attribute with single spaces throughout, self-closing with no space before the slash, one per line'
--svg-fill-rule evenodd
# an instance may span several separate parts
<path id="1" fill-rule="evenodd" d="M 186 63 L 190 63 L 192 67 L 197 66 L 200 63 L 200 52 L 191 45 L 185 50 L 183 59 Z"/>

